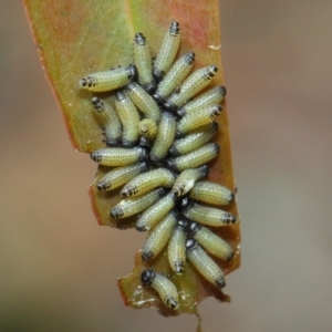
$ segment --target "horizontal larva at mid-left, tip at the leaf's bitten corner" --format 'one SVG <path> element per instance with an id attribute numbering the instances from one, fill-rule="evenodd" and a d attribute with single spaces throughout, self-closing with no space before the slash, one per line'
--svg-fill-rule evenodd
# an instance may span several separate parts
<path id="1" fill-rule="evenodd" d="M 94 151 L 90 156 L 94 162 L 103 166 L 126 166 L 145 162 L 148 154 L 141 146 L 133 148 L 105 147 Z"/>

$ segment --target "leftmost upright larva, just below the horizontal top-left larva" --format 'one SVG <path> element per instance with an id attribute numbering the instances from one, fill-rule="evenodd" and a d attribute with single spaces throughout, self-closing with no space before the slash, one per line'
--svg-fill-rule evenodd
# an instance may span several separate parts
<path id="1" fill-rule="evenodd" d="M 118 146 L 122 137 L 122 127 L 115 110 L 98 97 L 93 97 L 92 104 L 104 129 L 106 145 Z"/>

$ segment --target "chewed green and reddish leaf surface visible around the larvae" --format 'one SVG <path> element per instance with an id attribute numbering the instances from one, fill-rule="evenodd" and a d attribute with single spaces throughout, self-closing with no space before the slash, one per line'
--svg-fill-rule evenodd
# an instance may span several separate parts
<path id="1" fill-rule="evenodd" d="M 60 104 L 70 137 L 81 152 L 91 153 L 103 147 L 104 143 L 93 116 L 92 95 L 79 89 L 79 80 L 87 73 L 132 63 L 132 43 L 136 32 L 143 32 L 147 37 L 152 54 L 156 54 L 165 30 L 172 21 L 178 21 L 183 37 L 179 54 L 194 51 L 196 68 L 217 65 L 219 74 L 214 84 L 224 82 L 218 0 L 25 0 L 25 8 L 43 68 Z M 211 164 L 209 179 L 235 189 L 226 104 L 218 123 L 220 129 L 217 142 L 221 146 L 221 153 Z M 106 167 L 98 168 L 96 179 L 90 188 L 96 218 L 101 225 L 133 227 L 133 218 L 118 221 L 110 217 L 111 207 L 120 200 L 118 191 L 105 195 L 95 188 L 95 183 L 106 170 Z M 226 209 L 237 215 L 235 203 Z M 227 274 L 240 263 L 239 225 L 220 228 L 217 232 L 236 250 L 231 262 L 218 262 Z M 134 308 L 155 307 L 164 315 L 177 315 L 195 313 L 197 304 L 209 295 L 229 301 L 227 295 L 187 264 L 183 277 L 170 278 L 180 293 L 179 310 L 170 311 L 153 290 L 141 286 L 141 272 L 152 266 L 170 273 L 165 252 L 148 263 L 142 262 L 137 253 L 133 272 L 118 281 L 126 304 Z"/>

